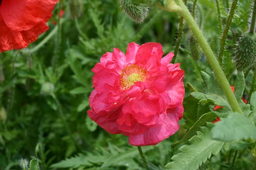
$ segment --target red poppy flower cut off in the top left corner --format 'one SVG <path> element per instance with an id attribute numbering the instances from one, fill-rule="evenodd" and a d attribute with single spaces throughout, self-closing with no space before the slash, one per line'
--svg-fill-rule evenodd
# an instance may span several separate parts
<path id="1" fill-rule="evenodd" d="M 0 0 L 0 52 L 26 48 L 47 31 L 57 0 Z"/>

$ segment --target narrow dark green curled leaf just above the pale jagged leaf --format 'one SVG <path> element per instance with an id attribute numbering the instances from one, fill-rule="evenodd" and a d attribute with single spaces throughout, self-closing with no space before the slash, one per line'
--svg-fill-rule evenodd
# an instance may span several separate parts
<path id="1" fill-rule="evenodd" d="M 195 122 L 195 124 L 187 131 L 187 133 L 183 136 L 182 139 L 180 139 L 178 142 L 175 142 L 172 147 L 177 146 L 178 144 L 181 144 L 183 142 L 188 141 L 192 136 L 196 134 L 196 132 L 200 129 L 201 126 L 205 126 L 206 122 L 212 122 L 214 118 L 216 117 L 215 112 L 209 112 L 203 114 L 198 121 Z"/>

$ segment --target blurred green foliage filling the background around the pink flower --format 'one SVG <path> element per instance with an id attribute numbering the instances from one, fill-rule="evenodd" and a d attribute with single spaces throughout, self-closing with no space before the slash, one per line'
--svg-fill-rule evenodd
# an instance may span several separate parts
<path id="1" fill-rule="evenodd" d="M 220 2 L 222 23 L 226 22 L 231 6 L 231 1 L 226 1 Z M 188 0 L 189 8 L 192 3 Z M 237 78 L 232 59 L 234 48 L 248 29 L 251 3 L 251 0 L 239 1 L 224 51 L 224 71 L 231 85 L 235 85 Z M 198 25 L 218 54 L 220 34 L 215 1 L 199 0 L 196 8 Z M 58 17 L 60 9 L 65 12 L 61 19 Z M 75 11 L 77 18 L 71 16 Z M 23 162 L 32 158 L 39 160 L 41 170 L 143 168 L 137 148 L 128 144 L 126 136 L 111 135 L 88 118 L 86 111 L 90 109 L 88 97 L 93 76 L 90 69 L 102 54 L 113 51 L 114 47 L 125 52 L 132 41 L 139 44 L 160 42 L 165 54 L 174 51 L 180 16 L 152 7 L 144 23 L 137 24 L 122 11 L 117 0 L 82 0 L 75 11 L 73 7 L 70 10 L 68 1 L 62 0 L 53 11 L 49 31 L 29 48 L 0 54 L 0 170 L 22 169 Z M 184 83 L 189 82 L 205 93 L 203 75 L 211 75 L 211 69 L 204 54 L 199 61 L 192 59 L 190 36 L 185 24 L 176 62 L 185 70 Z M 246 77 L 245 99 L 252 76 L 253 71 Z M 210 87 L 214 86 L 212 83 L 209 82 Z M 218 86 L 214 88 L 221 92 Z M 180 152 L 178 147 L 172 150 L 172 144 L 184 136 L 198 117 L 214 108 L 212 102 L 198 108 L 198 99 L 185 99 L 185 119 L 180 120 L 181 128 L 175 135 L 156 146 L 143 147 L 151 169 L 163 169 L 172 155 Z M 196 119 L 193 115 L 189 117 L 193 109 L 197 110 Z M 203 131 L 207 136 L 207 130 Z M 236 149 L 226 147 L 225 150 L 222 145 L 220 152 L 211 156 L 200 169 L 231 168 Z M 246 147 L 239 150 L 233 168 L 248 170 L 253 166 L 253 157 Z"/>

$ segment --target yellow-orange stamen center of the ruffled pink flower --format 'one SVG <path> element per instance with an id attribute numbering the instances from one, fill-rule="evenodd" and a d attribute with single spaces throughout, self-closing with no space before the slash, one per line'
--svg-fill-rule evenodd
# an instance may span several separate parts
<path id="1" fill-rule="evenodd" d="M 122 70 L 122 89 L 130 88 L 134 82 L 144 82 L 147 78 L 147 71 L 138 65 L 129 65 Z"/>

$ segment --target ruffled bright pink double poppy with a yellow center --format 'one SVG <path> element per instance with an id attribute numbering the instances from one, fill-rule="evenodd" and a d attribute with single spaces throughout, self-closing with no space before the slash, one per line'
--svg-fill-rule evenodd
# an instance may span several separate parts
<path id="1" fill-rule="evenodd" d="M 88 115 L 112 134 L 122 133 L 136 146 L 154 145 L 174 134 L 183 117 L 184 71 L 163 57 L 162 45 L 128 44 L 104 54 L 92 69 Z"/>

